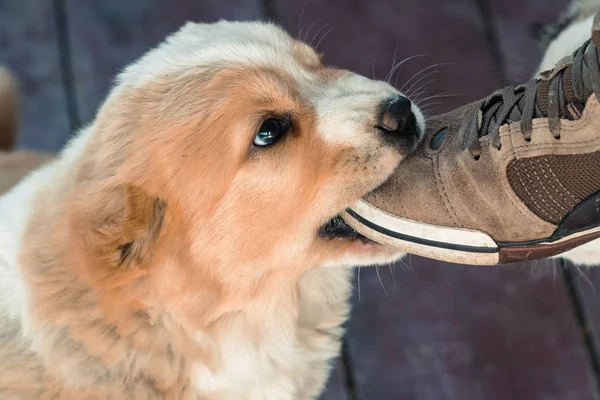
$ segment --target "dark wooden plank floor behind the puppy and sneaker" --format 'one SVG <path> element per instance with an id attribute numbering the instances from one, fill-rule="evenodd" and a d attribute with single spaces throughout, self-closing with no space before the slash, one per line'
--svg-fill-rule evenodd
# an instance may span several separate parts
<path id="1" fill-rule="evenodd" d="M 531 28 L 566 2 L 0 0 L 0 63 L 22 82 L 28 148 L 63 146 L 115 73 L 186 20 L 269 18 L 318 44 L 328 63 L 380 79 L 394 59 L 421 55 L 397 85 L 415 94 L 427 84 L 420 98 L 433 113 L 529 77 L 541 56 Z M 436 93 L 454 95 L 426 99 Z M 599 283 L 600 269 L 552 262 L 482 268 L 413 257 L 361 269 L 323 398 L 598 399 Z"/>

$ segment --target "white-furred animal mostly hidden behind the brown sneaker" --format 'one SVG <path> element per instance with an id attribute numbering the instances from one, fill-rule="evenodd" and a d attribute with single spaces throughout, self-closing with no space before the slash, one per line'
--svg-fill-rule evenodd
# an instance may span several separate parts
<path id="1" fill-rule="evenodd" d="M 543 44 L 547 48 L 537 73 L 552 69 L 563 57 L 571 55 L 590 37 L 594 14 L 600 9 L 600 0 L 575 0 L 567 12 L 555 24 L 546 28 Z M 579 265 L 600 264 L 600 240 L 589 242 L 562 254 Z"/>

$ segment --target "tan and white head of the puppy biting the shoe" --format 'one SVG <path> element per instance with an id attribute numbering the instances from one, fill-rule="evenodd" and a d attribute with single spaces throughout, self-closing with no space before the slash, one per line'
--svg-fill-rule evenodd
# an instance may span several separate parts
<path id="1" fill-rule="evenodd" d="M 399 256 L 337 215 L 380 185 L 423 118 L 274 25 L 188 24 L 128 67 L 89 128 L 69 202 L 96 283 L 299 277 Z M 85 267 L 88 268 L 88 267 Z M 178 286 L 181 287 L 181 286 Z"/>

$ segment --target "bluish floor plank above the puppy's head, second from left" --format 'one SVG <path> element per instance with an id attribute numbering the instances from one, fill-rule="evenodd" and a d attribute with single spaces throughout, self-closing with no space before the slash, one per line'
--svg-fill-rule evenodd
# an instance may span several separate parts
<path id="1" fill-rule="evenodd" d="M 257 0 L 67 0 L 77 102 L 89 122 L 115 75 L 187 21 L 261 16 Z"/>

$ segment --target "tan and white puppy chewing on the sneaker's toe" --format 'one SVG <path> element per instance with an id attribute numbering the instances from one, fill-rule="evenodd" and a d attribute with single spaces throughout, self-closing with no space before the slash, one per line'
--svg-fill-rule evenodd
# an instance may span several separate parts
<path id="1" fill-rule="evenodd" d="M 347 267 L 401 256 L 337 217 L 416 145 L 399 96 L 263 23 L 190 23 L 126 68 L 0 198 L 0 397 L 318 396 Z"/>

